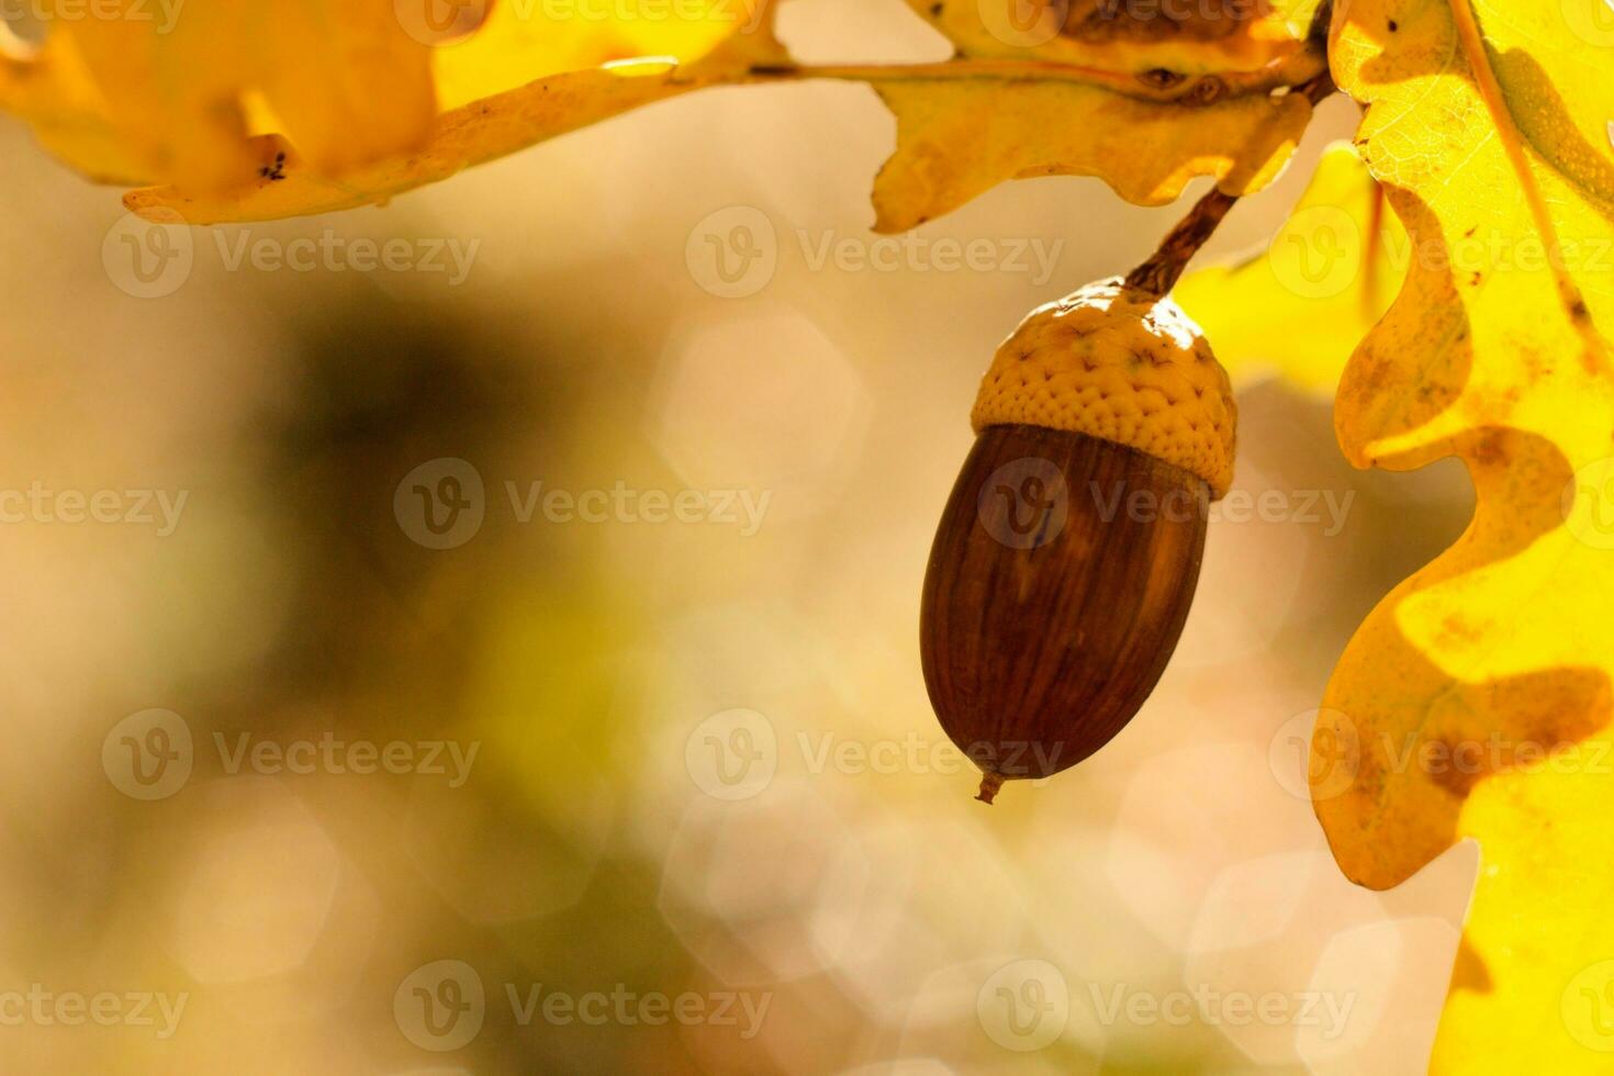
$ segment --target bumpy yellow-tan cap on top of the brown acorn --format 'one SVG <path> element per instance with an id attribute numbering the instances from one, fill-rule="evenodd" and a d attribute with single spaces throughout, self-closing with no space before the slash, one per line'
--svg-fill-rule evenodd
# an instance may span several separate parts
<path id="1" fill-rule="evenodd" d="M 1233 484 L 1238 405 L 1204 332 L 1170 298 L 1094 281 L 1033 310 L 993 358 L 970 423 L 1064 429 Z"/>

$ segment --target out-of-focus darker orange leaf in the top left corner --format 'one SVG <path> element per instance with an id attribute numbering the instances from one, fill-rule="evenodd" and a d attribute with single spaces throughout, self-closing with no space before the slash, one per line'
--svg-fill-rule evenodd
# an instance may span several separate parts
<path id="1" fill-rule="evenodd" d="M 436 113 L 431 50 L 391 3 L 98 0 L 89 18 L 45 15 L 39 55 L 0 65 L 0 105 L 92 176 L 236 182 L 252 98 L 332 173 L 418 147 Z"/>

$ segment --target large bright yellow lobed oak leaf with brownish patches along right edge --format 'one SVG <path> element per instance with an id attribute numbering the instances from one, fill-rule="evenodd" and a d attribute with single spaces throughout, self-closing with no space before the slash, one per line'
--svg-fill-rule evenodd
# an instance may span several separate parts
<path id="1" fill-rule="evenodd" d="M 1572 6 L 1351 0 L 1332 31 L 1412 250 L 1340 442 L 1359 466 L 1457 455 L 1478 497 L 1357 631 L 1312 740 L 1349 878 L 1480 844 L 1436 1073 L 1614 1063 L 1614 53 Z"/>

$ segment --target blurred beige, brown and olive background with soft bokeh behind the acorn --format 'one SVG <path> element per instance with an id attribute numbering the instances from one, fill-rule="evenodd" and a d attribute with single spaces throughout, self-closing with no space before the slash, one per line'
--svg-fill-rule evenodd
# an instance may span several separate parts
<path id="1" fill-rule="evenodd" d="M 894 0 L 783 29 L 947 52 Z M 1356 473 L 1240 374 L 1273 510 L 1212 523 L 1107 750 L 973 802 L 917 619 L 978 377 L 1188 202 L 1038 179 L 875 242 L 893 134 L 709 92 L 166 245 L 0 127 L 8 1071 L 1424 1071 L 1474 853 L 1353 887 L 1304 749 L 1461 468 Z"/>

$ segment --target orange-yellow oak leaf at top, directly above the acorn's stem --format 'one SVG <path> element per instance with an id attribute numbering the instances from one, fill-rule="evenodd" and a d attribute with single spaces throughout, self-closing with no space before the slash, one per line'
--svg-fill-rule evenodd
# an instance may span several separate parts
<path id="1" fill-rule="evenodd" d="M 901 232 L 1007 179 L 1098 176 L 1164 205 L 1196 176 L 1251 194 L 1288 163 L 1325 69 L 1317 0 L 909 0 L 959 48 L 936 76 L 872 79 L 897 116 L 875 231 Z M 918 74 L 918 73 L 915 73 Z"/>

